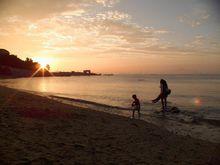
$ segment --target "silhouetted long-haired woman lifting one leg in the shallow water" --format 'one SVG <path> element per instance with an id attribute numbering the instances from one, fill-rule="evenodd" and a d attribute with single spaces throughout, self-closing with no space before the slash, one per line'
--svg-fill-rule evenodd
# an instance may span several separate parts
<path id="1" fill-rule="evenodd" d="M 168 88 L 167 82 L 164 79 L 160 80 L 160 94 L 159 96 L 152 100 L 153 103 L 157 103 L 161 100 L 163 111 L 167 109 L 167 96 L 171 93 L 171 90 Z"/>

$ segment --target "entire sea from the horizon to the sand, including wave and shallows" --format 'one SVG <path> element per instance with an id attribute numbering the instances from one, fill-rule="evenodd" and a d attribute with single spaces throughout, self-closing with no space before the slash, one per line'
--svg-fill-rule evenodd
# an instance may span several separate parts
<path id="1" fill-rule="evenodd" d="M 160 93 L 160 79 L 171 89 L 169 109 L 178 109 L 178 113 L 162 113 L 160 102 L 151 102 Z M 142 120 L 177 134 L 220 143 L 220 75 L 34 77 L 2 79 L 0 84 L 125 117 L 131 116 L 132 95 L 136 94 Z"/>

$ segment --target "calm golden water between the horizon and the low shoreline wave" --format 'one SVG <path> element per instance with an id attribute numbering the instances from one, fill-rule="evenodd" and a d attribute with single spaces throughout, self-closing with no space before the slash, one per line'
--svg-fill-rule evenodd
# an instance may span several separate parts
<path id="1" fill-rule="evenodd" d="M 1 80 L 9 87 L 82 99 L 106 105 L 130 107 L 131 95 L 141 100 L 142 110 L 159 109 L 151 101 L 159 92 L 159 81 L 167 80 L 172 90 L 171 106 L 204 112 L 220 119 L 220 75 L 114 75 L 90 77 L 45 77 Z"/>

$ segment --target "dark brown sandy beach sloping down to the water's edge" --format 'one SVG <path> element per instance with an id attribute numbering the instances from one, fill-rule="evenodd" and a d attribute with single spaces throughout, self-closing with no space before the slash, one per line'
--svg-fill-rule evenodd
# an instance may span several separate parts
<path id="1" fill-rule="evenodd" d="M 218 164 L 220 145 L 0 86 L 1 164 Z"/>

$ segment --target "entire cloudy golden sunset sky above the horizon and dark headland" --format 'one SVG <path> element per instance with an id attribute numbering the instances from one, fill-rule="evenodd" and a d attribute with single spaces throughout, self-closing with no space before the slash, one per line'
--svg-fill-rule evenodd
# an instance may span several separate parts
<path id="1" fill-rule="evenodd" d="M 0 48 L 53 71 L 220 73 L 219 0 L 0 0 Z"/>

